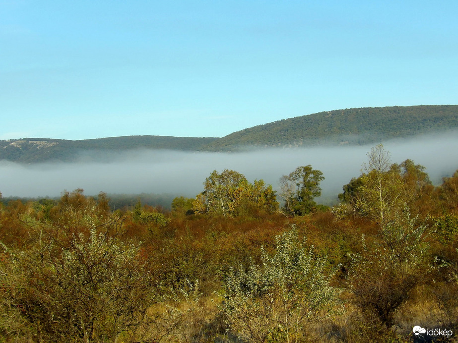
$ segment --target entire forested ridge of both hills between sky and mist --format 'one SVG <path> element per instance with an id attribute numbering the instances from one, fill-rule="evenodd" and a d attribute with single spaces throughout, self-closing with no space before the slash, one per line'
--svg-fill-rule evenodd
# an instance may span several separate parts
<path id="1" fill-rule="evenodd" d="M 132 149 L 240 151 L 263 147 L 361 145 L 458 129 L 458 105 L 376 107 L 282 119 L 215 137 L 124 136 L 85 140 L 22 138 L 0 141 L 0 160 L 20 163 L 110 160 Z"/>

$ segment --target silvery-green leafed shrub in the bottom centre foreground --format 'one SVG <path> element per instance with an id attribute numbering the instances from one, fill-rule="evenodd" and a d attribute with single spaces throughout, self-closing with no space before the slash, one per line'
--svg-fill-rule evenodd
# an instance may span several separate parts
<path id="1" fill-rule="evenodd" d="M 276 236 L 275 253 L 262 248 L 262 264 L 231 269 L 225 280 L 223 311 L 231 330 L 253 342 L 302 340 L 308 324 L 325 318 L 338 290 L 329 286 L 333 271 L 297 230 Z"/>

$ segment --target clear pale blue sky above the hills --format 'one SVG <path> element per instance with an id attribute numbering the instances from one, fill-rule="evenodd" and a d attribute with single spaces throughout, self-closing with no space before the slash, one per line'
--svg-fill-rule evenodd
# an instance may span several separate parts
<path id="1" fill-rule="evenodd" d="M 0 139 L 458 104 L 458 1 L 0 0 Z"/>

